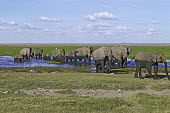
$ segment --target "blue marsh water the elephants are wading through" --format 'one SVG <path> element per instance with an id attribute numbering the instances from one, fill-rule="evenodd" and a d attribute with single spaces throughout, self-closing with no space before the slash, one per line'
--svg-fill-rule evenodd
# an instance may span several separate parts
<path id="1" fill-rule="evenodd" d="M 128 61 L 131 61 L 131 59 L 128 59 Z M 23 63 L 15 63 L 14 58 L 11 56 L 0 56 L 0 67 L 37 67 L 37 66 L 46 66 L 46 67 L 86 67 L 87 65 L 77 65 L 70 63 L 61 63 L 61 64 L 48 64 L 48 62 L 53 61 L 46 61 L 43 59 L 35 59 L 31 58 L 31 60 L 23 62 Z M 168 68 L 170 68 L 170 60 L 167 60 L 168 62 Z M 92 65 L 94 65 L 94 60 L 92 59 Z M 128 63 L 127 67 L 135 67 L 136 64 L 134 60 L 132 60 L 130 63 Z M 159 68 L 164 68 L 164 65 L 162 63 L 159 63 Z"/>

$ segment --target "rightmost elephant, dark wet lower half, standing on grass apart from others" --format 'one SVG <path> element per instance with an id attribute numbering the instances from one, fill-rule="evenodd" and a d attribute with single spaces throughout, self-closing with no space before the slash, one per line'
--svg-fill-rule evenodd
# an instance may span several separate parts
<path id="1" fill-rule="evenodd" d="M 140 51 L 135 56 L 136 71 L 134 77 L 143 78 L 141 74 L 141 68 L 146 68 L 148 70 L 148 76 L 151 76 L 152 66 L 154 66 L 154 79 L 157 79 L 158 73 L 158 63 L 164 63 L 165 73 L 168 77 L 167 62 L 163 53 L 159 51 Z M 169 79 L 169 77 L 168 77 Z"/>

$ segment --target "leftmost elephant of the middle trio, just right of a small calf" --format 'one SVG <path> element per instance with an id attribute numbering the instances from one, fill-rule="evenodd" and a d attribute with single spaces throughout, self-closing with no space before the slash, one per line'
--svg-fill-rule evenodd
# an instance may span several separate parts
<path id="1" fill-rule="evenodd" d="M 53 51 L 53 60 L 56 62 L 65 62 L 65 50 L 56 49 Z"/>

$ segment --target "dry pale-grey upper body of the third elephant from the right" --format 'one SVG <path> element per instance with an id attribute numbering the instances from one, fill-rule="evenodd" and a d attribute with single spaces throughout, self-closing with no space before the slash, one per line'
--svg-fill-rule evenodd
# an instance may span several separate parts
<path id="1" fill-rule="evenodd" d="M 93 53 L 92 56 L 94 60 L 101 60 L 105 59 L 106 57 L 112 58 L 112 51 L 110 47 L 101 47 L 99 49 L 96 49 Z"/>

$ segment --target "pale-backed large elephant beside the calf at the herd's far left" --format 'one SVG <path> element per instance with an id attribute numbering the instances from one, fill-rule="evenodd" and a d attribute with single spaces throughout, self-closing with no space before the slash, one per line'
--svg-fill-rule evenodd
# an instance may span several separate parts
<path id="1" fill-rule="evenodd" d="M 20 54 L 23 55 L 25 60 L 30 59 L 32 55 L 32 48 L 23 48 L 21 49 Z"/>

